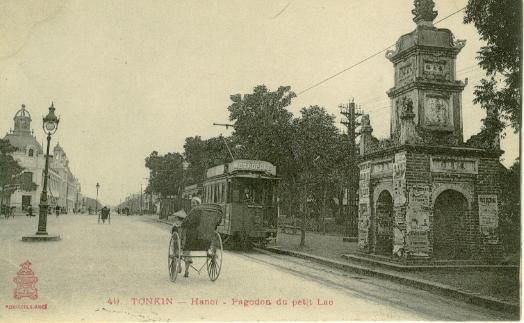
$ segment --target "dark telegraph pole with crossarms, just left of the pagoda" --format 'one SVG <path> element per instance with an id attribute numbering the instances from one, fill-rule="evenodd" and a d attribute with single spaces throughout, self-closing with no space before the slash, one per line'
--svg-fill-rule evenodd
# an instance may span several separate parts
<path id="1" fill-rule="evenodd" d="M 360 109 L 357 109 L 355 107 L 355 102 L 351 100 L 351 102 L 348 103 L 348 105 L 341 105 L 340 106 L 340 114 L 342 114 L 344 117 L 346 117 L 346 120 L 342 120 L 341 123 L 345 125 L 348 129 L 348 169 L 347 169 L 347 217 L 346 217 L 346 228 L 345 228 L 345 235 L 346 237 L 349 236 L 356 236 L 357 235 L 357 228 L 356 228 L 356 198 L 357 198 L 357 190 L 358 190 L 358 172 L 356 167 L 356 154 L 355 154 L 355 147 L 356 147 L 356 137 L 360 134 L 357 132 L 357 128 L 360 126 L 360 122 L 357 120 L 360 116 L 362 116 L 362 111 Z"/>

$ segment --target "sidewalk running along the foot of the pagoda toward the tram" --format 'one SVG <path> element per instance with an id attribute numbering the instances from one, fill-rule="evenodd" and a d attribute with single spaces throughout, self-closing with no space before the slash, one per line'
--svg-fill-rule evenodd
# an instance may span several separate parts
<path id="1" fill-rule="evenodd" d="M 341 236 L 306 232 L 306 246 L 301 249 L 299 244 L 300 234 L 290 235 L 279 232 L 276 244 L 268 245 L 268 249 L 329 263 L 344 270 L 393 279 L 477 304 L 509 310 L 517 310 L 519 307 L 518 270 L 439 268 L 431 271 L 400 272 L 343 259 L 343 254 L 354 254 L 358 247 L 356 242 L 343 242 Z"/>

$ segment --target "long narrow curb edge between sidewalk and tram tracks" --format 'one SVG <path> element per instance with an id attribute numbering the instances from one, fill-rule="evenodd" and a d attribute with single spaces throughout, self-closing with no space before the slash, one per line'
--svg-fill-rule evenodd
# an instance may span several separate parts
<path id="1" fill-rule="evenodd" d="M 387 273 L 384 271 L 379 271 L 379 270 L 371 269 L 368 267 L 359 266 L 356 264 L 350 264 L 350 263 L 327 259 L 324 257 L 313 256 L 313 255 L 309 255 L 303 252 L 280 249 L 276 247 L 266 247 L 265 250 L 273 252 L 273 253 L 277 253 L 277 254 L 312 260 L 317 263 L 320 263 L 323 265 L 329 265 L 329 266 L 332 266 L 332 267 L 335 267 L 337 269 L 341 269 L 344 271 L 350 271 L 350 272 L 354 272 L 357 274 L 362 274 L 366 276 L 372 276 L 372 277 L 395 281 L 403 285 L 408 285 L 408 286 L 416 287 L 422 290 L 434 292 L 440 295 L 450 296 L 456 299 L 460 299 L 462 301 L 465 301 L 466 303 L 480 305 L 486 308 L 495 309 L 499 311 L 505 311 L 508 313 L 513 313 L 517 316 L 517 318 L 519 317 L 519 313 L 520 313 L 519 304 L 504 302 L 494 297 L 480 296 L 478 294 L 458 290 L 458 289 L 455 289 L 451 286 L 447 286 L 444 284 L 434 283 L 434 282 L 430 282 L 430 281 L 423 280 L 423 279 L 407 278 L 407 277 L 403 277 L 400 275 L 395 275 L 392 273 Z"/>

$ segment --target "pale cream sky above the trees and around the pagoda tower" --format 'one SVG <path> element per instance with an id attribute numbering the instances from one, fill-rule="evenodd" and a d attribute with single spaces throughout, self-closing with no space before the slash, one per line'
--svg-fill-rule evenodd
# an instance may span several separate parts
<path id="1" fill-rule="evenodd" d="M 436 0 L 442 19 L 467 0 Z M 256 85 L 299 93 L 391 47 L 415 28 L 412 0 L 2 0 L 0 1 L 0 134 L 22 104 L 43 141 L 41 117 L 54 102 L 59 142 L 82 193 L 118 204 L 145 188 L 144 159 L 153 150 L 183 151 L 186 137 L 230 135 L 229 97 Z M 464 138 L 485 112 L 473 105 L 483 76 L 482 46 L 463 12 L 437 25 L 466 47 L 457 58 Z M 374 135 L 389 136 L 386 91 L 393 65 L 384 54 L 308 90 L 289 110 L 338 106 L 354 99 L 370 114 Z M 342 125 L 338 126 L 343 129 Z M 518 137 L 502 141 L 503 163 L 518 156 Z"/>

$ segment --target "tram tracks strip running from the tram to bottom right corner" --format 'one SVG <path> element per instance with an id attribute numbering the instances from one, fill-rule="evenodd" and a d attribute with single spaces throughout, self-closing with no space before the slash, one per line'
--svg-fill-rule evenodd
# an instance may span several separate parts
<path id="1" fill-rule="evenodd" d="M 457 301 L 453 298 L 380 278 L 330 268 L 307 259 L 275 254 L 260 248 L 253 248 L 252 252 L 231 253 L 253 262 L 276 267 L 308 281 L 316 281 L 322 286 L 329 286 L 375 304 L 388 304 L 395 308 L 425 315 L 431 320 L 434 320 L 435 317 L 443 321 L 486 320 L 486 317 L 489 317 L 490 320 L 504 320 L 512 317 L 508 313 L 493 312 L 472 304 L 463 303 L 457 306 Z"/>

